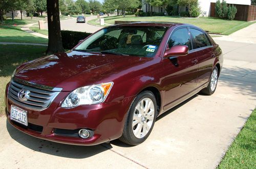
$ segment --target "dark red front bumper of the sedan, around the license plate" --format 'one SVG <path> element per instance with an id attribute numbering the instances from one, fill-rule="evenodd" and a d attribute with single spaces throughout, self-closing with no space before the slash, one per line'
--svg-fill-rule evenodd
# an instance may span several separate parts
<path id="1" fill-rule="evenodd" d="M 45 110 L 35 111 L 16 105 L 7 97 L 8 86 L 5 92 L 6 117 L 9 123 L 18 130 L 31 136 L 54 142 L 92 146 L 117 139 L 122 135 L 125 114 L 129 109 L 132 98 L 122 101 L 102 103 L 96 105 L 78 106 L 71 109 L 60 107 L 60 103 L 66 98 L 67 92 L 60 92 L 52 104 Z M 10 119 L 11 105 L 28 111 L 28 127 Z M 79 129 L 93 131 L 89 138 L 79 137 Z M 67 135 L 56 133 L 57 130 L 74 134 Z"/>

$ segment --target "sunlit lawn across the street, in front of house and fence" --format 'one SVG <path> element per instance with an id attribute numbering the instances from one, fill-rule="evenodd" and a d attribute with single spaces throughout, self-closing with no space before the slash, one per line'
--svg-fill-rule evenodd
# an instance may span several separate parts
<path id="1" fill-rule="evenodd" d="M 94 19 L 97 20 L 97 19 Z M 95 21 L 91 20 L 90 23 Z M 245 28 L 255 22 L 246 22 L 239 20 L 224 20 L 213 17 L 199 17 L 199 18 L 181 18 L 177 16 L 152 16 L 152 17 L 136 17 L 134 15 L 123 16 L 110 16 L 104 17 L 106 23 L 114 24 L 115 20 L 123 21 L 159 21 L 159 22 L 179 22 L 179 23 L 189 23 L 191 25 L 198 26 L 205 31 L 210 33 L 217 33 L 222 35 L 229 35 L 236 32 L 242 28 Z"/>

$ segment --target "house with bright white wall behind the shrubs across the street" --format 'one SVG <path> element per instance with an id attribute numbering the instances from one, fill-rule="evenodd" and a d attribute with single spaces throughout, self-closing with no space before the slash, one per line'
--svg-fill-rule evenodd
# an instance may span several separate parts
<path id="1" fill-rule="evenodd" d="M 221 0 L 222 1 L 222 0 Z M 199 5 L 202 10 L 202 15 L 209 16 L 210 15 L 210 3 L 216 3 L 217 0 L 198 0 Z M 238 4 L 238 5 L 251 5 L 251 0 L 226 0 L 227 4 Z M 167 13 L 165 11 L 165 6 L 161 7 L 153 7 L 150 4 L 143 3 L 142 8 L 144 12 L 150 12 L 151 10 L 153 12 L 163 12 Z M 187 7 L 181 7 L 181 11 L 188 11 Z"/>

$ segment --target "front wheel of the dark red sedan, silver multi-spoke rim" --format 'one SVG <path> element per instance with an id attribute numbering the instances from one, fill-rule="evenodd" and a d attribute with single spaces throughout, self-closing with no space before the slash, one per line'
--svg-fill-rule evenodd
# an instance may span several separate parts
<path id="1" fill-rule="evenodd" d="M 123 134 L 119 140 L 132 146 L 145 141 L 154 127 L 156 114 L 157 102 L 154 94 L 151 91 L 138 94 L 127 113 Z"/>

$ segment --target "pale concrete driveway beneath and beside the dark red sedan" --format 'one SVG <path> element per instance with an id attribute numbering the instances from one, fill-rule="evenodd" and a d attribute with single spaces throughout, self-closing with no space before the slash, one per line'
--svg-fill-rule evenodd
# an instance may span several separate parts
<path id="1" fill-rule="evenodd" d="M 216 42 L 224 54 L 216 92 L 162 114 L 142 144 L 60 144 L 24 134 L 1 117 L 0 168 L 215 168 L 256 105 L 256 44 Z"/>

